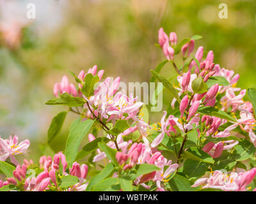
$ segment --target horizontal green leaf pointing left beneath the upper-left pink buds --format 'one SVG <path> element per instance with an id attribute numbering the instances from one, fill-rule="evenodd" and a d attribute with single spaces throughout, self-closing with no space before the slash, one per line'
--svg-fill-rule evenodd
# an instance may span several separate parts
<path id="1" fill-rule="evenodd" d="M 46 105 L 83 106 L 85 101 L 82 98 L 71 96 L 68 93 L 61 94 L 58 98 L 52 98 Z"/>

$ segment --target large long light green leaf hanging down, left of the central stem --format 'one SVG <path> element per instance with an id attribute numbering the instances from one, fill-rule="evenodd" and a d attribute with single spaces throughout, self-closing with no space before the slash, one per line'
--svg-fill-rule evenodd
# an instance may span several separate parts
<path id="1" fill-rule="evenodd" d="M 84 135 L 92 127 L 93 122 L 94 120 L 87 119 L 83 122 L 79 122 L 79 124 L 74 126 L 74 128 L 70 129 L 65 149 L 65 156 L 68 166 L 72 166 L 72 163 L 76 159 L 79 145 L 82 142 Z"/>

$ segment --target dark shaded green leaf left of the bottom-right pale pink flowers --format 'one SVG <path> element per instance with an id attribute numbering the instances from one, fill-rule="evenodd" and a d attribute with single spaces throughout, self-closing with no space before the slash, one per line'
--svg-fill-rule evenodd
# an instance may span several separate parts
<path id="1" fill-rule="evenodd" d="M 186 159 L 183 164 L 183 172 L 189 177 L 202 177 L 207 171 L 208 165 L 209 164 L 201 161 Z"/>

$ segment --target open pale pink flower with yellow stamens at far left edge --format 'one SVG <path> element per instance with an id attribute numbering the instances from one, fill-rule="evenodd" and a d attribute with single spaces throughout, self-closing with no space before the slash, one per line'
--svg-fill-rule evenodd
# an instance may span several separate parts
<path id="1" fill-rule="evenodd" d="M 24 140 L 19 143 L 19 138 L 17 135 L 13 136 L 13 138 L 10 136 L 9 140 L 4 140 L 0 136 L 0 161 L 5 161 L 8 157 L 10 157 L 13 164 L 19 164 L 14 156 L 25 152 L 29 145 L 29 140 Z"/>

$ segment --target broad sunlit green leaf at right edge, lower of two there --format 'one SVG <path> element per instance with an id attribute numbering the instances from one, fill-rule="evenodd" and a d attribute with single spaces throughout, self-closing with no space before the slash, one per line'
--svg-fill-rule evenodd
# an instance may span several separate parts
<path id="1" fill-rule="evenodd" d="M 248 140 L 242 138 L 242 141 L 239 142 L 234 149 L 236 150 L 236 161 L 244 161 L 253 156 L 256 149 L 253 146 L 253 143 Z"/>

